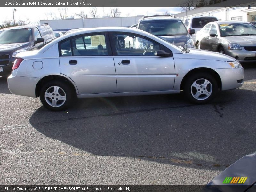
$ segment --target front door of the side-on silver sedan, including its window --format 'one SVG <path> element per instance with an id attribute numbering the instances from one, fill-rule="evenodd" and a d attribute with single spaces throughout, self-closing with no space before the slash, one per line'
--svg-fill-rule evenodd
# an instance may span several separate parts
<path id="1" fill-rule="evenodd" d="M 118 36 L 134 38 L 133 48 L 118 46 Z M 131 33 L 109 34 L 116 67 L 117 92 L 144 92 L 172 90 L 175 78 L 172 52 L 163 45 Z M 156 56 L 158 50 L 170 57 Z"/>

